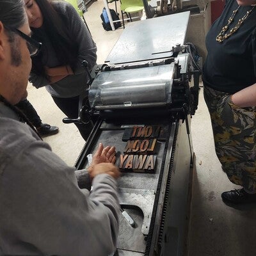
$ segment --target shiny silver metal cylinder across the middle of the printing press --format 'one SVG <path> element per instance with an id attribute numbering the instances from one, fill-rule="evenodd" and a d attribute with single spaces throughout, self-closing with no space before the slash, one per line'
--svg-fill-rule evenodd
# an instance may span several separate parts
<path id="1" fill-rule="evenodd" d="M 140 108 L 170 103 L 174 64 L 100 72 L 89 91 L 95 109 Z"/>

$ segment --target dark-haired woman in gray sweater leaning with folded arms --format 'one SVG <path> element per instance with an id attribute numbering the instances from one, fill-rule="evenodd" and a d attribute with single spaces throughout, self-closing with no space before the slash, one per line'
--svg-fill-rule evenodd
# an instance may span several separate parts
<path id="1" fill-rule="evenodd" d="M 40 53 L 32 60 L 29 81 L 36 88 L 45 86 L 58 108 L 68 118 L 77 118 L 79 96 L 86 95 L 88 82 L 81 61 L 86 60 L 92 70 L 97 60 L 92 36 L 73 6 L 65 1 L 24 0 L 24 3 L 32 37 L 42 42 Z M 76 125 L 86 140 L 93 125 Z"/>

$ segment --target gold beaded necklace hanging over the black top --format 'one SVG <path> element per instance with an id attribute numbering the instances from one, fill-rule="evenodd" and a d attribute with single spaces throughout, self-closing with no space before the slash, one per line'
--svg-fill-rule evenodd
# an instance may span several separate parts
<path id="1" fill-rule="evenodd" d="M 232 12 L 231 17 L 228 19 L 228 24 L 227 24 L 226 26 L 224 26 L 224 27 L 221 29 L 219 35 L 216 37 L 216 41 L 217 41 L 218 43 L 222 43 L 225 39 L 227 39 L 227 38 L 230 37 L 232 34 L 234 34 L 234 33 L 237 31 L 237 29 L 239 29 L 239 28 L 241 27 L 241 25 L 243 24 L 244 20 L 247 19 L 247 17 L 248 17 L 249 14 L 252 12 L 252 10 L 255 8 L 255 6 L 253 6 L 253 8 L 252 8 L 250 11 L 247 11 L 247 12 L 244 14 L 244 17 L 243 17 L 242 19 L 239 19 L 239 20 L 238 20 L 236 26 L 234 26 L 234 28 L 230 29 L 230 31 L 225 34 L 225 32 L 226 32 L 227 29 L 228 29 L 229 24 L 234 20 L 234 17 L 235 17 L 235 15 L 236 15 L 237 11 L 239 10 L 239 8 L 240 8 L 240 5 L 238 6 L 238 8 L 237 8 L 236 10 L 234 10 L 234 11 Z"/>

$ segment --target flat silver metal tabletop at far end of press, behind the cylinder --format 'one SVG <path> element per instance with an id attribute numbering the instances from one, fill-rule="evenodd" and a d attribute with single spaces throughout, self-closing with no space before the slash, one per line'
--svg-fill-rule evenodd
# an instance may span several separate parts
<path id="1" fill-rule="evenodd" d="M 132 22 L 110 52 L 111 64 L 155 60 L 172 56 L 172 47 L 184 44 L 189 12 Z"/>

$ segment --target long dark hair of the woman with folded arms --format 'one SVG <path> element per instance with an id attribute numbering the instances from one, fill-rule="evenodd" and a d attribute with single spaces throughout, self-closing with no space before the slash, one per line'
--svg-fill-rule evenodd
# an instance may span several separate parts
<path id="1" fill-rule="evenodd" d="M 72 35 L 67 29 L 67 17 L 54 9 L 54 5 L 47 0 L 35 0 L 44 18 L 42 28 L 31 28 L 33 38 L 42 42 L 42 51 L 32 58 L 32 72 L 45 76 L 42 58 L 44 52 L 44 33 L 51 41 L 52 47 L 61 65 L 70 65 L 74 68 L 77 61 L 78 45 L 74 44 Z"/>

